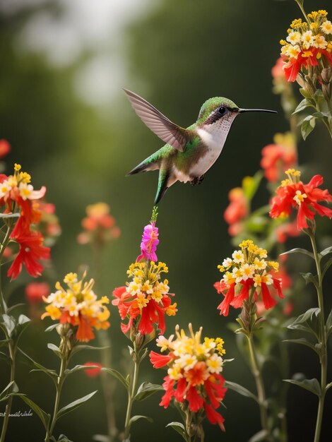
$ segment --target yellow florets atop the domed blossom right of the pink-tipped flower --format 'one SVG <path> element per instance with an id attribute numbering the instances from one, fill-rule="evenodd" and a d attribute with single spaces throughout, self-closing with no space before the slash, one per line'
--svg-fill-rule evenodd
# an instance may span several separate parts
<path id="1" fill-rule="evenodd" d="M 242 241 L 239 247 L 241 250 L 235 250 L 232 258 L 226 258 L 223 265 L 218 265 L 220 272 L 225 272 L 223 281 L 226 287 L 249 279 L 254 281 L 254 287 L 261 286 L 262 282 L 273 284 L 273 277 L 268 272 L 278 272 L 279 264 L 266 261 L 264 258 L 267 258 L 267 251 L 256 246 L 251 239 Z"/>

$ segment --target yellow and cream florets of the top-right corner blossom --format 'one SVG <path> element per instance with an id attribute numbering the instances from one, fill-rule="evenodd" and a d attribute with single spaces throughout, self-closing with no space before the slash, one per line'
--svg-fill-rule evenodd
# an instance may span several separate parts
<path id="1" fill-rule="evenodd" d="M 332 23 L 326 16 L 326 11 L 319 10 L 308 14 L 308 22 L 302 22 L 301 18 L 293 20 L 286 40 L 280 40 L 281 55 L 297 59 L 300 53 L 304 58 L 314 56 L 315 49 L 332 52 Z M 321 53 L 317 52 L 316 57 L 319 59 Z"/>

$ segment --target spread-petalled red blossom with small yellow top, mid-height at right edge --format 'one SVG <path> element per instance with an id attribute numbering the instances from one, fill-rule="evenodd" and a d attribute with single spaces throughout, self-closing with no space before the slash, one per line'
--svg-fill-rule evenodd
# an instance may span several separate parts
<path id="1" fill-rule="evenodd" d="M 332 218 L 332 209 L 319 204 L 319 201 L 332 201 L 332 195 L 328 190 L 321 190 L 319 186 L 324 179 L 321 175 L 315 175 L 308 184 L 300 181 L 300 171 L 289 169 L 285 172 L 287 179 L 281 182 L 276 189 L 276 196 L 271 201 L 270 216 L 272 218 L 287 217 L 292 208 L 297 209 L 297 229 L 307 229 L 307 220 L 314 220 L 318 213 L 320 216 Z"/>

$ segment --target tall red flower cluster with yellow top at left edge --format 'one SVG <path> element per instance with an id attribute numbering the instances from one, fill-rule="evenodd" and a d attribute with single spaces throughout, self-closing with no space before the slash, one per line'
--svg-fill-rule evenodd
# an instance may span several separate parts
<path id="1" fill-rule="evenodd" d="M 11 240 L 19 245 L 18 254 L 7 273 L 12 279 L 18 277 L 23 264 L 30 275 L 39 276 L 43 270 L 40 259 L 49 259 L 49 248 L 42 245 L 42 234 L 31 230 L 31 225 L 39 222 L 41 216 L 34 202 L 45 195 L 46 188 L 42 186 L 35 191 L 30 184 L 30 175 L 20 169 L 20 165 L 15 165 L 13 175 L 0 174 L 0 206 L 4 207 L 4 215 L 18 215 L 10 235 Z M 4 220 L 9 227 L 16 217 Z"/>

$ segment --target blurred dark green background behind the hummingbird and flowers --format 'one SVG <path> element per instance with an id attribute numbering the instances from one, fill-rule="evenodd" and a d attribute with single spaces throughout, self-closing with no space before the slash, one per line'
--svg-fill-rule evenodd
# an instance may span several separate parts
<path id="1" fill-rule="evenodd" d="M 331 0 L 321 0 L 319 5 L 307 0 L 305 6 L 307 11 L 328 9 Z M 203 184 L 172 186 L 160 204 L 158 218 L 158 258 L 169 265 L 171 292 L 179 307 L 175 318 L 167 318 L 166 334 L 172 333 L 176 323 L 186 327 L 190 321 L 196 329 L 203 325 L 205 335 L 221 335 L 227 358 L 235 358 L 225 366 L 225 378 L 253 389 L 235 336 L 227 329 L 238 312 L 232 311 L 228 318 L 219 316 L 220 295 L 213 282 L 219 277 L 217 264 L 233 249 L 223 220 L 227 193 L 259 169 L 261 148 L 273 141 L 274 133 L 288 130 L 279 97 L 271 92 L 271 68 L 279 56 L 280 38 L 299 16 L 295 1 L 0 1 L 0 138 L 12 146 L 6 172 L 12 171 L 13 162 L 19 162 L 32 174 L 36 189 L 47 186 L 47 201 L 57 206 L 63 232 L 52 249 L 54 267 L 40 278 L 52 286 L 66 273 L 91 263 L 88 246 L 76 242 L 88 204 L 109 203 L 121 228 L 121 237 L 112 242 L 104 257 L 100 295 L 110 295 L 114 287 L 124 285 L 126 268 L 138 255 L 158 176 L 152 172 L 126 178 L 125 174 L 162 142 L 136 117 L 122 87 L 146 97 L 184 127 L 196 120 L 201 104 L 213 96 L 229 97 L 240 107 L 278 110 L 276 116 L 247 114 L 237 119 Z M 299 157 L 308 176 L 323 174 L 326 187 L 332 189 L 331 140 L 322 127 L 305 143 L 300 142 Z M 266 204 L 266 198 L 267 192 L 259 193 L 256 206 Z M 331 227 L 323 223 L 321 229 L 328 234 Z M 308 246 L 305 239 L 296 244 L 300 241 Z M 307 265 L 303 260 L 303 266 Z M 31 279 L 23 274 L 6 287 L 10 303 L 24 301 L 24 286 Z M 315 305 L 312 289 L 303 292 L 303 302 L 304 306 Z M 301 300 L 299 305 L 298 313 L 305 308 Z M 112 308 L 111 314 L 114 368 L 121 369 L 127 342 L 119 330 L 117 309 Z M 38 362 L 55 368 L 57 359 L 46 343 L 57 343 L 57 333 L 45 335 L 46 325 L 49 322 L 32 323 L 21 347 Z M 292 373 L 319 376 L 318 362 L 309 350 L 291 350 Z M 90 360 L 97 360 L 95 353 L 75 362 Z M 148 361 L 143 367 L 142 381 L 162 382 L 162 371 L 153 371 Z M 1 364 L 1 386 L 7 383 L 6 370 Z M 20 359 L 18 385 L 50 412 L 52 385 L 42 374 L 29 370 Z M 63 404 L 100 389 L 100 381 L 80 373 L 65 387 Z M 121 388 L 116 390 L 119 426 L 126 404 Z M 141 408 L 136 406 L 138 414 L 148 414 L 154 423 L 134 424 L 132 442 L 180 440 L 172 429 L 165 429 L 167 422 L 178 419 L 177 414 L 158 407 L 159 401 L 160 395 L 155 395 Z M 288 404 L 290 441 L 312 441 L 316 398 L 292 387 Z M 259 430 L 254 402 L 230 391 L 225 405 L 222 414 L 227 432 L 206 425 L 207 441 L 247 441 Z M 326 405 L 331 412 L 329 396 Z M 25 408 L 19 399 L 14 400 L 13 412 Z M 101 392 L 56 427 L 57 436 L 64 433 L 80 442 L 106 431 Z M 327 431 L 325 422 L 322 441 L 328 440 Z M 11 419 L 7 441 L 22 440 L 43 440 L 42 425 L 35 415 Z"/>

